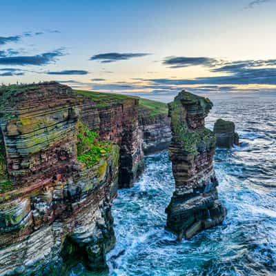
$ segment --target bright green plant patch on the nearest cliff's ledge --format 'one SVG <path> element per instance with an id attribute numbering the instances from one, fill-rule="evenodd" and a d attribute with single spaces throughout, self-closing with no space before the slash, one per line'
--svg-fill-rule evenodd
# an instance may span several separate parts
<path id="1" fill-rule="evenodd" d="M 97 132 L 88 130 L 82 123 L 79 123 L 77 138 L 77 160 L 86 164 L 86 168 L 98 164 L 102 158 L 107 157 L 112 151 L 110 141 L 100 140 Z"/>

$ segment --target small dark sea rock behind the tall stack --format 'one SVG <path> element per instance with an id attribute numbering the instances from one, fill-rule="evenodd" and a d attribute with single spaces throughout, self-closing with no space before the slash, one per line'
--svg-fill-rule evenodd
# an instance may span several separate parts
<path id="1" fill-rule="evenodd" d="M 232 148 L 233 145 L 239 146 L 239 135 L 235 132 L 233 121 L 217 119 L 214 125 L 216 145 L 219 148 Z"/>

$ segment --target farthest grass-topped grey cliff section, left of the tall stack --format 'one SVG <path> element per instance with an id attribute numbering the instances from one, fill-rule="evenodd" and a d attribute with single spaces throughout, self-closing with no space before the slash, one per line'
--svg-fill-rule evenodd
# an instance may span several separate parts
<path id="1" fill-rule="evenodd" d="M 139 99 L 139 126 L 143 132 L 144 154 L 168 149 L 172 135 L 166 103 Z"/>

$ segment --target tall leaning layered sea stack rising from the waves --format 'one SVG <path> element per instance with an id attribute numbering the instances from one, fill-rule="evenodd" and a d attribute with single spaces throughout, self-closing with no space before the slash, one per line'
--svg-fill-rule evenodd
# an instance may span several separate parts
<path id="1" fill-rule="evenodd" d="M 220 224 L 226 215 L 217 194 L 213 168 L 215 135 L 204 127 L 213 103 L 209 99 L 179 92 L 169 104 L 172 142 L 169 156 L 175 192 L 166 208 L 166 229 L 189 239 L 200 230 Z"/>

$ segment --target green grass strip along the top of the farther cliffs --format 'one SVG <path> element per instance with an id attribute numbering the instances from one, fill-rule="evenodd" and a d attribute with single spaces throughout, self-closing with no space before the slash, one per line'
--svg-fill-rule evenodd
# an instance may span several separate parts
<path id="1" fill-rule="evenodd" d="M 78 95 L 85 97 L 90 97 L 96 102 L 98 107 L 109 106 L 110 102 L 122 103 L 126 99 L 139 99 L 139 108 L 144 108 L 149 111 L 149 116 L 157 115 L 168 115 L 168 105 L 166 103 L 161 103 L 159 101 L 152 101 L 150 99 L 144 99 L 134 96 L 126 96 L 119 94 L 94 92 L 94 91 L 84 91 L 84 90 L 74 90 Z"/>

